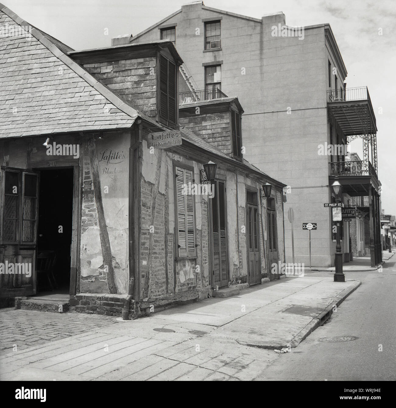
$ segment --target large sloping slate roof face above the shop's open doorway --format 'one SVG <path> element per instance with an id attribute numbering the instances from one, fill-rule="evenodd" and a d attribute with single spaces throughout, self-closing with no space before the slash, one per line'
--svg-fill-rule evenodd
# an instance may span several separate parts
<path id="1" fill-rule="evenodd" d="M 69 47 L 0 4 L 7 24 L 32 36 L 0 35 L 0 138 L 132 126 L 138 111 L 60 50 Z"/>

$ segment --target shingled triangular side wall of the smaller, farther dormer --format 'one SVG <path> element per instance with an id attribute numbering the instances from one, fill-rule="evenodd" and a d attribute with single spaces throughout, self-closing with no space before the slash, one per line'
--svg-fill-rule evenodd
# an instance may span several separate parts
<path id="1" fill-rule="evenodd" d="M 232 153 L 229 112 L 180 117 L 179 122 L 223 153 Z"/>

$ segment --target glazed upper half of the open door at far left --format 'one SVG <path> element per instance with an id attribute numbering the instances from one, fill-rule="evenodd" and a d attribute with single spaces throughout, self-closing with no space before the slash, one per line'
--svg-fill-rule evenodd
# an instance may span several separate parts
<path id="1" fill-rule="evenodd" d="M 38 175 L 4 170 L 4 206 L 1 241 L 27 244 L 36 241 Z"/>

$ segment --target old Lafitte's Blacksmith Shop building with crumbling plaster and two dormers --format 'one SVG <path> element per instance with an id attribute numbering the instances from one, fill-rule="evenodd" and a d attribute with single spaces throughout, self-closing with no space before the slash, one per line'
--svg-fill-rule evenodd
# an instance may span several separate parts
<path id="1" fill-rule="evenodd" d="M 3 306 L 43 308 L 51 290 L 55 311 L 131 318 L 279 277 L 285 184 L 244 160 L 237 98 L 179 112 L 172 42 L 77 52 L 0 10 L 13 27 L 0 37 Z"/>

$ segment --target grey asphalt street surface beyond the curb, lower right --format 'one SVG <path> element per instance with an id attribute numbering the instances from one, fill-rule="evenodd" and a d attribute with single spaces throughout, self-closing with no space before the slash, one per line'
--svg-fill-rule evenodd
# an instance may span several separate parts
<path id="1" fill-rule="evenodd" d="M 346 273 L 346 279 L 360 280 L 362 285 L 326 324 L 290 353 L 280 355 L 257 380 L 395 380 L 396 259 L 392 260 L 382 272 Z M 318 274 L 323 272 L 308 275 Z"/>

